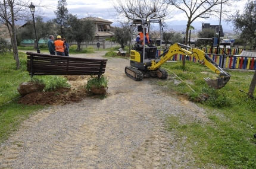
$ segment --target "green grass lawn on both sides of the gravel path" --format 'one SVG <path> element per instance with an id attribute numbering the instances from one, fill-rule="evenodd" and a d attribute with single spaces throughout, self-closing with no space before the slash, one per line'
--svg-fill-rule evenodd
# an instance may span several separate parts
<path id="1" fill-rule="evenodd" d="M 115 51 L 117 49 L 113 48 Z M 116 52 L 112 50 L 106 54 L 107 57 L 114 55 Z M 43 108 L 17 103 L 20 97 L 18 85 L 30 80 L 26 71 L 26 54 L 19 53 L 19 56 L 20 70 L 16 70 L 11 53 L 0 56 L 0 142 L 4 142 L 17 130 L 29 114 Z M 213 90 L 207 86 L 204 78 L 216 79 L 217 76 L 204 65 L 186 62 L 183 68 L 182 62 L 167 62 L 162 68 L 166 68 L 169 74 L 167 80 L 157 81 L 158 85 L 165 87 L 164 92 L 186 95 L 206 110 L 206 122 L 192 117 L 191 120 L 181 120 L 183 114 L 170 115 L 165 120 L 166 130 L 172 133 L 180 148 L 192 153 L 197 167 L 216 164 L 223 168 L 256 168 L 256 139 L 253 138 L 256 133 L 256 100 L 248 98 L 246 94 L 254 72 L 227 70 L 232 75 L 230 81 L 220 90 Z M 174 74 L 182 82 L 174 83 L 179 81 Z M 200 101 L 198 98 L 201 94 L 208 94 L 210 98 Z"/>

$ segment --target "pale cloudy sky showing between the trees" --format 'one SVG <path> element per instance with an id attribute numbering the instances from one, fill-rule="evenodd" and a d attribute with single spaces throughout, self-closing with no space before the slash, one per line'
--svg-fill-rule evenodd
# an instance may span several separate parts
<path id="1" fill-rule="evenodd" d="M 37 3 L 37 1 L 35 1 Z M 78 18 L 85 17 L 99 17 L 104 20 L 112 21 L 112 26 L 118 26 L 118 19 L 116 18 L 117 12 L 113 8 L 113 4 L 111 4 L 110 0 L 66 0 L 68 13 L 77 15 Z M 35 5 L 37 5 L 35 3 Z M 236 9 L 241 9 L 244 7 L 246 0 L 242 0 L 236 2 Z M 34 4 L 34 3 L 33 3 Z M 50 4 L 50 5 L 49 5 Z M 43 13 L 43 17 L 45 18 L 55 18 L 54 11 L 57 10 L 58 0 L 44 0 L 40 2 L 39 5 L 46 5 L 47 7 L 40 7 Z M 224 10 L 225 7 L 223 7 Z M 37 8 L 36 8 L 37 9 Z M 36 11 L 35 11 L 36 15 Z M 46 19 L 47 20 L 47 19 Z M 176 30 L 177 27 L 180 30 L 185 30 L 187 18 L 182 12 L 175 12 L 175 15 L 170 20 L 166 20 L 166 29 L 167 30 Z M 220 22 L 220 18 L 207 18 L 207 19 L 198 19 L 192 23 L 193 27 L 195 27 L 195 31 L 201 30 L 202 23 L 210 23 L 211 25 L 218 25 Z M 233 30 L 232 23 L 226 23 L 225 21 L 221 21 L 221 25 L 224 31 Z"/>

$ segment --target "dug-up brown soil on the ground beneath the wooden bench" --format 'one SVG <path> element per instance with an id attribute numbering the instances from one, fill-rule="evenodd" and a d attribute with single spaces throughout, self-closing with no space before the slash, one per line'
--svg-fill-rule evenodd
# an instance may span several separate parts
<path id="1" fill-rule="evenodd" d="M 65 76 L 71 88 L 57 88 L 56 91 L 35 92 L 26 94 L 20 98 L 20 104 L 67 104 L 83 100 L 92 95 L 86 90 L 85 85 L 89 76 Z"/>

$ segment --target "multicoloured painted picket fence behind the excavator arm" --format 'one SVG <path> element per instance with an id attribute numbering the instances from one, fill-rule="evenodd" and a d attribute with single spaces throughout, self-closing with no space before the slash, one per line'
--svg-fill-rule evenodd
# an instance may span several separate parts
<path id="1" fill-rule="evenodd" d="M 163 53 L 163 50 L 157 50 L 157 57 Z M 205 52 L 207 53 L 207 52 Z M 240 52 L 241 53 L 241 52 Z M 239 54 L 240 54 L 239 53 Z M 220 68 L 227 68 L 227 69 L 256 69 L 256 58 L 254 57 L 246 57 L 246 56 L 233 56 L 233 55 L 216 55 L 207 53 L 214 62 L 217 63 Z M 237 55 L 237 54 L 236 54 Z M 185 55 L 174 55 L 171 60 L 179 61 L 182 60 L 183 57 L 186 57 L 186 60 L 190 60 L 191 62 L 197 63 L 199 60 L 195 57 L 185 56 Z"/>

